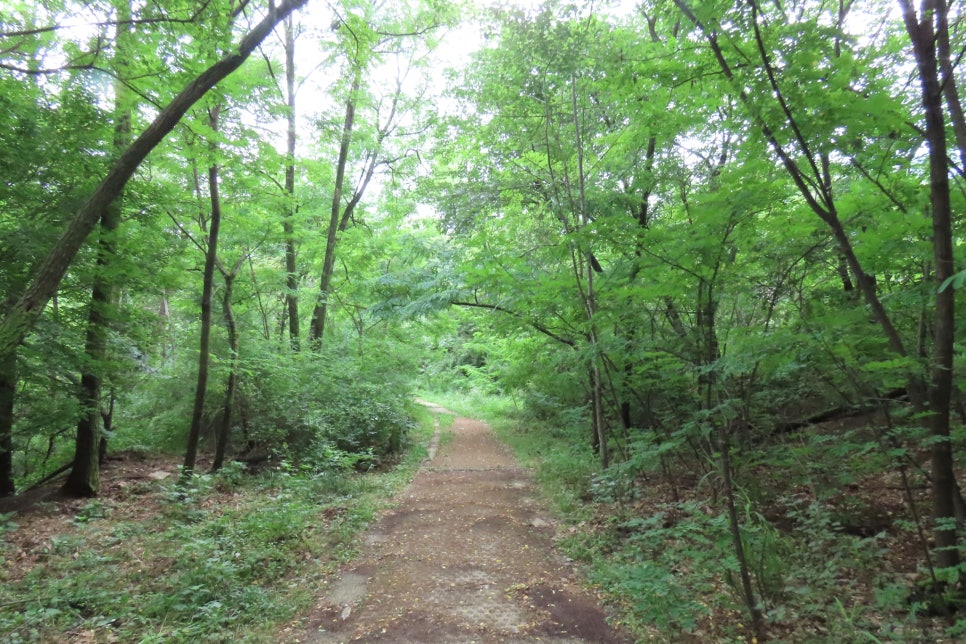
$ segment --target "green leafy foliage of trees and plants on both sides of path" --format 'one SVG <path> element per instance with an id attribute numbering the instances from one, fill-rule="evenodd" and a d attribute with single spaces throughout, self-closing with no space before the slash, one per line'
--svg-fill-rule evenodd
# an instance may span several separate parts
<path id="1" fill-rule="evenodd" d="M 29 3 L 0 10 L 6 31 L 23 32 L 0 47 L 0 301 L 17 299 L 115 153 L 112 92 L 99 70 L 123 80 L 132 100 L 163 105 L 232 46 L 231 4 L 132 6 L 136 43 L 35 29 L 67 20 L 72 3 L 45 3 L 42 15 Z M 21 348 L 17 483 L 70 458 L 81 371 L 102 375 L 104 407 L 116 403 L 112 449 L 183 446 L 210 233 L 203 179 L 217 164 L 218 259 L 238 271 L 230 304 L 241 348 L 236 361 L 216 312 L 204 449 L 237 366 L 232 454 L 274 459 L 281 488 L 304 479 L 348 494 L 352 470 L 378 469 L 406 447 L 418 382 L 496 425 L 538 466 L 558 508 L 599 528 L 568 547 L 634 624 L 703 633 L 711 616 L 743 610 L 723 511 L 731 494 L 769 620 L 834 625 L 845 639 L 903 637 L 893 623 L 900 584 L 872 574 L 869 559 L 887 541 L 883 526 L 849 531 L 868 527 L 862 492 L 890 471 L 925 480 L 921 456 L 943 439 L 894 396 L 924 382 L 937 358 L 927 341 L 936 291 L 966 280 L 958 272 L 937 289 L 932 275 L 928 168 L 922 133 L 910 127 L 922 110 L 905 76 L 904 26 L 878 0 L 697 2 L 697 21 L 681 12 L 691 4 L 644 2 L 626 15 L 556 2 L 481 11 L 484 45 L 465 69 L 446 72 L 448 96 L 434 101 L 428 76 L 401 93 L 392 79 L 428 60 L 436 37 L 425 26 L 453 20 L 454 7 L 334 3 L 335 29 L 296 28 L 297 59 L 321 51 L 340 73 L 324 75 L 321 93 L 333 98 L 311 107 L 311 127 L 299 122 L 299 136 L 308 129 L 314 140 L 299 141 L 294 194 L 284 188 L 289 159 L 266 134 L 289 112 L 275 87 L 280 52 L 266 49 L 264 61 L 219 83 L 129 185 L 114 240 L 122 302 L 106 322 L 110 358 L 84 357 L 95 240 Z M 85 12 L 97 23 L 119 6 Z M 961 51 L 962 34 L 951 37 L 948 48 Z M 71 65 L 39 69 L 58 61 Z M 311 82 L 305 71 L 299 86 Z M 218 133 L 204 109 L 216 104 Z M 335 205 L 355 210 L 320 294 L 349 104 L 356 120 Z M 136 132 L 154 108 L 130 108 Z M 417 136 L 427 124 L 433 143 Z M 424 160 L 428 173 L 417 168 Z M 352 182 L 370 168 L 385 171 L 373 182 L 383 193 L 355 201 L 368 179 Z M 872 285 L 864 291 L 862 277 Z M 291 297 L 303 326 L 325 298 L 321 351 L 290 346 Z M 966 387 L 962 369 L 953 375 Z M 607 469 L 591 448 L 592 400 L 602 401 Z M 888 418 L 871 418 L 873 406 Z M 828 410 L 840 412 L 835 424 L 804 422 Z M 960 451 L 962 434 L 954 428 Z M 737 492 L 722 482 L 722 444 Z M 203 504 L 246 484 L 236 464 L 170 491 L 165 518 L 186 545 L 168 556 L 185 566 L 145 600 L 156 639 L 228 637 L 240 614 L 274 610 L 264 575 L 291 573 L 286 553 L 304 545 L 311 510 L 288 496 L 250 517 L 213 517 Z M 92 502 L 74 522 L 93 528 L 116 511 Z M 911 539 L 910 526 L 895 529 Z M 112 586 L 91 569 L 115 561 L 88 554 L 92 540 L 52 544 L 54 555 L 75 556 L 57 565 L 76 579 L 56 582 L 63 598 L 32 597 L 22 614 L 32 625 L 10 637 L 34 629 L 41 638 L 48 622 L 123 629 L 122 617 L 141 619 L 103 595 Z M 870 587 L 884 599 L 863 605 L 853 595 Z M 732 631 L 717 635 L 742 635 Z"/>

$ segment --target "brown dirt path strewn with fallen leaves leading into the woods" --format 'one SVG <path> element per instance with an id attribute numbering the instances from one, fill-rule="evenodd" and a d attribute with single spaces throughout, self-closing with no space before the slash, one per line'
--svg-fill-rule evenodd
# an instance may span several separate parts
<path id="1" fill-rule="evenodd" d="M 435 408 L 436 412 L 445 410 Z M 457 418 L 286 641 L 629 642 L 553 550 L 553 526 L 489 427 Z"/>

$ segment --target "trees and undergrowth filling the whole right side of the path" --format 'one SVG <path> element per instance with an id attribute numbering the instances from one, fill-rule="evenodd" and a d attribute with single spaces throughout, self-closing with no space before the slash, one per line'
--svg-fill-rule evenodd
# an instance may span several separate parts
<path id="1" fill-rule="evenodd" d="M 480 20 L 430 382 L 514 401 L 643 639 L 961 636 L 958 9 Z"/>

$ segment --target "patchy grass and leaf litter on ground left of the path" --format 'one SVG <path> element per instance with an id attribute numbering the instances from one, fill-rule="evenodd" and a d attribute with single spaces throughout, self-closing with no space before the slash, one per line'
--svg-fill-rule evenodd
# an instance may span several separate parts
<path id="1" fill-rule="evenodd" d="M 420 421 L 382 472 L 234 465 L 186 489 L 144 484 L 127 501 L 86 503 L 33 549 L 5 516 L 0 557 L 33 562 L 0 573 L 0 641 L 278 639 L 411 480 L 432 432 L 428 413 Z"/>

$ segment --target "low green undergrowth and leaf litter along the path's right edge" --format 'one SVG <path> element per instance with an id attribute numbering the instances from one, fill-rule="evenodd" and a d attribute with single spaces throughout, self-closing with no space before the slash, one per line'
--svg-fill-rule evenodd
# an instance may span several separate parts
<path id="1" fill-rule="evenodd" d="M 534 468 L 567 525 L 560 547 L 585 567 L 639 641 L 754 639 L 712 475 L 669 485 L 660 472 L 642 469 L 648 450 L 641 446 L 635 452 L 641 463 L 602 470 L 589 448 L 586 419 L 546 422 L 508 399 L 433 400 L 487 419 Z M 657 462 L 660 455 L 654 456 Z M 790 476 L 788 469 L 782 473 Z M 842 523 L 840 507 L 808 495 L 772 498 L 765 516 L 756 498 L 763 483 L 750 479 L 738 499 L 742 544 L 769 641 L 952 641 L 943 640 L 951 631 L 944 636 L 943 625 L 917 613 L 911 575 L 883 565 L 890 546 L 912 539 L 908 526 L 856 534 Z"/>

